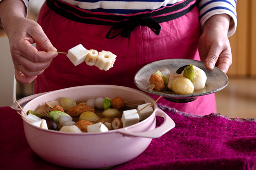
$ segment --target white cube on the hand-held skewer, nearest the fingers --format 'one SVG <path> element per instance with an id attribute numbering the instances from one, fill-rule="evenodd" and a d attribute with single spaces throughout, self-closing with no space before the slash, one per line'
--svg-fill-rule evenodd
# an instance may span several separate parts
<path id="1" fill-rule="evenodd" d="M 88 53 L 89 50 L 86 49 L 82 44 L 79 44 L 68 50 L 67 57 L 76 66 L 78 64 L 81 64 L 85 60 Z"/>

